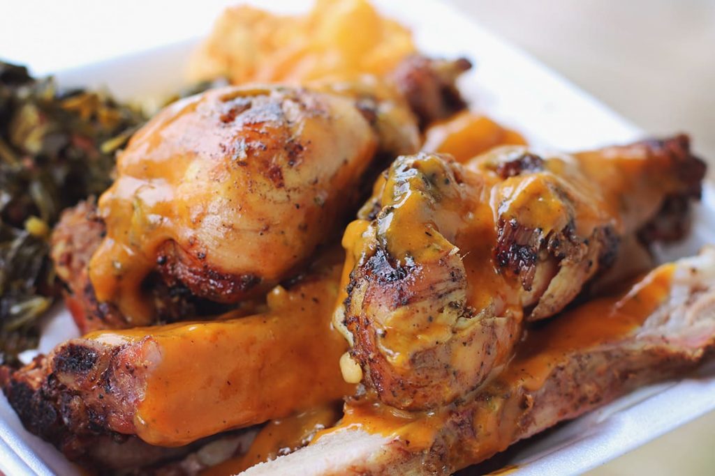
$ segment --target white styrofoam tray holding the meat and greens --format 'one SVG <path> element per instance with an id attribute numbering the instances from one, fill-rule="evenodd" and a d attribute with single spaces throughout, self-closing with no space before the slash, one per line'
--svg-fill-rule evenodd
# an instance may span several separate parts
<path id="1" fill-rule="evenodd" d="M 250 2 L 256 3 L 256 2 Z M 309 2 L 302 1 L 307 7 Z M 460 81 L 473 108 L 523 132 L 540 147 L 564 151 L 632 141 L 643 132 L 588 94 L 579 91 L 482 26 L 438 1 L 375 1 L 380 10 L 410 26 L 422 51 L 437 56 L 464 55 L 476 68 Z M 295 11 L 295 1 L 273 1 L 270 8 Z M 202 31 L 205 26 L 197 29 Z M 57 77 L 64 86 L 107 86 L 120 98 L 157 98 L 184 83 L 187 56 L 196 41 L 182 41 L 141 54 L 92 64 Z M 691 236 L 663 259 L 696 253 L 715 236 L 715 193 L 706 188 L 696 208 Z M 65 310 L 46 319 L 40 350 L 77 333 Z M 611 405 L 536 437 L 512 452 L 512 474 L 571 475 L 611 460 L 675 427 L 715 409 L 715 362 L 679 381 L 642 388 Z M 54 447 L 26 432 L 0 398 L 0 471 L 7 475 L 71 475 L 77 467 Z"/>

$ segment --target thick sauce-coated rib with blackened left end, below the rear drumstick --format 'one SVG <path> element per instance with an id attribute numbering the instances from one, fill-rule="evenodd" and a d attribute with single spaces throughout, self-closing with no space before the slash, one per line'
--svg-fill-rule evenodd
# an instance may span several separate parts
<path id="1" fill-rule="evenodd" d="M 4 370 L 5 394 L 31 432 L 73 457 L 102 435 L 185 445 L 352 395 L 338 365 L 347 344 L 330 322 L 340 254 L 271 290 L 265 313 L 69 340 Z"/>

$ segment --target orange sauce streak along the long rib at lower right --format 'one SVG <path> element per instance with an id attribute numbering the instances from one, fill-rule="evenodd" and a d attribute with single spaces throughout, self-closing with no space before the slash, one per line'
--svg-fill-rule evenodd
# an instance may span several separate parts
<path id="1" fill-rule="evenodd" d="M 632 335 L 669 298 L 674 268 L 674 264 L 661 265 L 628 293 L 598 298 L 528 330 L 503 373 L 461 405 L 435 412 L 405 412 L 375 401 L 373 395 L 348 402 L 340 424 L 320 432 L 312 442 L 331 432 L 363 430 L 399 440 L 406 450 L 420 452 L 433 445 L 452 415 L 469 412 L 476 437 L 453 442 L 447 464 L 457 470 L 483 461 L 521 437 L 518 420 L 525 411 L 521 406 L 524 392 L 541 388 L 571 353 L 587 353 Z"/>

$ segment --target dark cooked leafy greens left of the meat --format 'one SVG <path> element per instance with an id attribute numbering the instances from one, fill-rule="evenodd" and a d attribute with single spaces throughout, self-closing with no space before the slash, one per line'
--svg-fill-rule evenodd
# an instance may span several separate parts
<path id="1" fill-rule="evenodd" d="M 107 93 L 63 91 L 0 62 L 0 361 L 36 345 L 57 295 L 51 226 L 112 183 L 114 153 L 144 120 Z"/>

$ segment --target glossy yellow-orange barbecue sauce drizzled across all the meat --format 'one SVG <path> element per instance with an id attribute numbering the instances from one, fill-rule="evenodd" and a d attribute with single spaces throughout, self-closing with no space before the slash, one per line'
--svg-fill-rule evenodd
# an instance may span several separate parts
<path id="1" fill-rule="evenodd" d="M 186 107 L 190 109 L 192 104 Z M 440 140 L 432 139 L 438 144 L 436 150 L 453 153 L 459 161 L 468 162 L 468 169 L 480 171 L 483 171 L 483 161 L 468 159 L 487 146 L 480 145 L 479 141 L 470 145 L 469 141 L 465 141 L 466 136 L 484 138 L 483 142 L 489 144 L 491 141 L 497 144 L 523 142 L 518 134 L 504 131 L 488 119 L 469 113 L 434 126 L 430 133 L 433 137 L 441 137 Z M 168 159 L 164 158 L 157 167 L 168 166 Z M 188 162 L 184 162 L 187 160 L 173 157 L 171 167 L 181 172 L 182 168 L 189 166 Z M 459 209 L 440 212 L 438 220 L 443 235 L 449 236 L 458 246 L 462 243 L 485 243 L 481 249 L 470 245 L 470 252 L 463 256 L 469 275 L 468 304 L 477 309 L 495 305 L 502 312 L 507 308 L 516 309 L 516 291 L 505 293 L 503 290 L 516 290 L 518 283 L 498 273 L 493 263 L 496 210 L 492 199 L 495 187 L 503 186 L 503 181 L 490 173 L 467 172 L 469 199 Z M 532 187 L 532 196 L 536 197 L 551 192 L 543 181 L 534 180 L 525 186 Z M 585 188 L 587 191 L 590 189 L 588 186 Z M 135 188 L 132 193 L 137 191 L 140 189 Z M 116 192 L 119 193 L 118 190 Z M 124 196 L 129 195 L 131 193 L 124 193 Z M 593 213 L 593 216 L 583 217 L 583 221 L 590 225 L 602 218 L 593 210 L 603 213 L 617 210 L 615 198 L 616 193 L 613 193 L 613 199 L 598 198 L 588 207 L 588 213 Z M 133 243 L 132 240 L 147 239 L 147 236 L 131 236 L 131 229 L 127 227 L 133 226 L 133 221 L 143 220 L 144 228 L 152 230 L 154 238 L 144 242 L 144 248 L 152 248 L 166 238 L 161 231 L 164 224 L 160 217 L 169 215 L 162 208 L 171 206 L 172 192 L 157 183 L 152 191 L 142 196 L 142 200 L 152 203 L 152 213 L 142 216 L 132 215 L 130 211 L 128 217 L 127 211 L 112 211 L 110 214 L 127 223 L 127 226 L 118 229 L 129 238 L 108 236 L 102 244 L 102 251 L 92 261 L 92 282 L 100 300 L 116 297 L 117 289 L 120 293 L 125 288 L 127 293 L 138 293 L 138 283 L 154 266 L 152 260 L 136 255 L 127 245 Z M 587 200 L 593 202 L 593 197 L 585 196 L 584 201 Z M 528 205 L 511 203 L 509 206 Z M 543 223 L 546 221 L 544 216 L 551 219 L 558 216 L 559 211 L 549 205 L 540 203 L 540 206 L 533 207 L 535 222 Z M 405 223 L 417 223 L 414 216 L 424 213 L 418 206 L 410 211 L 410 201 L 402 206 L 404 209 L 400 212 L 409 211 L 411 216 L 405 219 Z M 348 231 L 352 229 L 352 234 L 346 233 L 343 238 L 348 250 L 355 249 L 367 224 L 358 221 L 348 228 Z M 390 243 L 398 243 L 410 253 L 418 248 L 426 251 L 429 237 L 425 236 L 423 228 L 400 226 L 395 228 L 394 239 L 391 238 Z M 119 258 L 105 259 L 110 255 Z M 235 462 L 235 467 L 227 463 L 225 470 L 229 474 L 238 467 L 245 467 L 242 465 L 248 465 L 250 461 L 252 464 L 259 457 L 272 455 L 276 447 L 295 435 L 305 434 L 307 427 L 315 427 L 315 420 L 290 420 L 287 415 L 354 393 L 355 386 L 342 380 L 338 367 L 338 360 L 347 350 L 347 343 L 330 325 L 329 318 L 336 300 L 342 302 L 345 298 L 343 289 L 350 269 L 352 265 L 346 264 L 342 285 L 338 284 L 340 267 L 336 266 L 329 277 L 302 284 L 295 290 L 275 288 L 269 295 L 270 312 L 265 315 L 212 323 L 103 331 L 88 337 L 134 342 L 151 335 L 157 343 L 161 358 L 152 371 L 135 417 L 137 435 L 144 441 L 155 445 L 183 445 L 231 427 L 285 418 L 269 424 L 274 425 L 270 427 L 271 436 L 259 437 L 246 459 Z M 531 330 L 526 340 L 518 345 L 516 358 L 498 378 L 499 382 L 510 388 L 538 388 L 570 350 L 586 349 L 628 335 L 664 298 L 671 272 L 672 268 L 661 267 L 646 278 L 636 293 L 622 299 L 593 301 L 555 318 L 543 328 Z M 505 286 L 505 281 L 511 285 Z M 131 307 L 122 311 L 127 315 L 136 315 L 139 320 L 150 313 L 141 299 L 123 299 L 122 302 Z M 187 350 L 188 346 L 190 350 Z M 396 353 L 400 351 L 407 355 L 406 349 L 395 349 Z M 515 407 L 513 412 L 518 415 L 518 408 Z M 345 406 L 345 416 L 340 424 L 321 432 L 318 437 L 336 430 L 360 428 L 409 441 L 411 450 L 425 450 L 435 440 L 447 417 L 446 409 L 437 413 L 410 413 L 376 402 L 353 402 Z M 488 411 L 480 412 L 475 419 L 479 444 L 465 447 L 465 464 L 483 460 L 505 449 L 513 442 L 517 430 L 514 425 L 514 420 L 496 419 Z M 211 474 L 224 474 L 219 469 L 217 467 L 218 472 Z"/>

